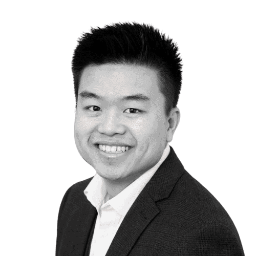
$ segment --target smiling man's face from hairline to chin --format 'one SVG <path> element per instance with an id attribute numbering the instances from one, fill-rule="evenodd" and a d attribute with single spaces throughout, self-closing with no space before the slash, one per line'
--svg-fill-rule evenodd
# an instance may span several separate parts
<path id="1" fill-rule="evenodd" d="M 132 95 L 144 100 L 125 99 Z M 99 176 L 137 179 L 160 160 L 171 133 L 155 71 L 126 65 L 83 70 L 74 138 L 79 154 Z"/>

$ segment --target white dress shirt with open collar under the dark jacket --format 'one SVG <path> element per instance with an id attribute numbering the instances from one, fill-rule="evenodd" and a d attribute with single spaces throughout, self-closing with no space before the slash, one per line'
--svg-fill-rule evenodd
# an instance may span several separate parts
<path id="1" fill-rule="evenodd" d="M 158 163 L 110 200 L 104 179 L 95 174 L 84 190 L 84 195 L 98 212 L 90 256 L 105 256 L 125 215 L 147 182 L 150 181 L 159 166 L 169 155 L 169 152 L 170 146 L 167 143 Z"/>

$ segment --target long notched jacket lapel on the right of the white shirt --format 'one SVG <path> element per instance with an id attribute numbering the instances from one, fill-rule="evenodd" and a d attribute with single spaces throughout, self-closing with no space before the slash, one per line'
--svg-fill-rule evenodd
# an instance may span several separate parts
<path id="1" fill-rule="evenodd" d="M 159 214 L 156 202 L 170 196 L 174 185 L 184 172 L 182 163 L 170 147 L 168 157 L 127 212 L 106 256 L 129 254 L 143 230 Z"/>

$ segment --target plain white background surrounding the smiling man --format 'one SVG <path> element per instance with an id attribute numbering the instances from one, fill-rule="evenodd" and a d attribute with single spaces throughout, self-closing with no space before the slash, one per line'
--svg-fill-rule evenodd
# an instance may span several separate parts
<path id="1" fill-rule="evenodd" d="M 187 172 L 227 210 L 245 253 L 252 255 L 252 5 L 234 1 L 72 3 L 16 3 L 8 7 L 7 47 L 2 48 L 8 56 L 2 60 L 9 71 L 3 72 L 8 94 L 3 98 L 12 107 L 13 124 L 7 125 L 4 134 L 11 138 L 6 151 L 12 154 L 7 172 L 11 177 L 4 185 L 12 198 L 5 197 L 5 214 L 13 222 L 5 223 L 7 238 L 12 240 L 5 247 L 9 252 L 5 255 L 14 255 L 13 250 L 26 255 L 54 255 L 62 196 L 72 184 L 95 174 L 78 154 L 73 135 L 75 101 L 70 62 L 76 39 L 90 26 L 127 20 L 152 23 L 180 47 L 184 63 L 178 104 L 181 122 L 171 145 Z"/>

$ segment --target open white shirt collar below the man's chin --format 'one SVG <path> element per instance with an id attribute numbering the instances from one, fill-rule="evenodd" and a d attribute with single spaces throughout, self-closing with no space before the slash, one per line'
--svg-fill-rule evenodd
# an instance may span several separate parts
<path id="1" fill-rule="evenodd" d="M 84 195 L 91 202 L 91 204 L 97 209 L 100 214 L 100 208 L 104 203 L 111 205 L 120 215 L 123 217 L 127 214 L 127 211 L 131 208 L 142 189 L 145 187 L 148 181 L 156 173 L 159 166 L 167 158 L 170 152 L 170 146 L 167 143 L 164 148 L 162 157 L 158 163 L 151 169 L 147 170 L 138 179 L 136 179 L 129 186 L 124 188 L 117 196 L 109 200 L 104 179 L 101 178 L 97 173 L 89 183 L 86 189 L 84 189 Z"/>

